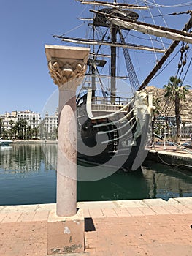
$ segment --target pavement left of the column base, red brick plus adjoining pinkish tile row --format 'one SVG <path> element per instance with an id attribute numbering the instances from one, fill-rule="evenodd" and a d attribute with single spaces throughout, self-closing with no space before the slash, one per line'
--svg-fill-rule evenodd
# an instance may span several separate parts
<path id="1" fill-rule="evenodd" d="M 2 207 L 1 207 L 2 208 Z M 0 211 L 0 256 L 47 255 L 49 211 Z M 22 206 L 21 206 L 22 208 Z"/>

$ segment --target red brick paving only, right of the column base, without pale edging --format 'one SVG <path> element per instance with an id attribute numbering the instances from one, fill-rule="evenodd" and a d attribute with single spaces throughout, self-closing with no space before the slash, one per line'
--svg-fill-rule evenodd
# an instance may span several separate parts
<path id="1" fill-rule="evenodd" d="M 192 214 L 93 218 L 85 232 L 90 256 L 191 256 Z"/>

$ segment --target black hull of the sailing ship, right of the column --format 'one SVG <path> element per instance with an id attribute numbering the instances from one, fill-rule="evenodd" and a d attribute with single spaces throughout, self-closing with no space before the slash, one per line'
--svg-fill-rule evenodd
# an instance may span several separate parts
<path id="1" fill-rule="evenodd" d="M 114 167 L 116 170 L 123 169 L 126 172 L 137 170 L 147 156 L 145 143 L 149 119 L 148 115 L 141 135 L 135 141 L 136 125 L 127 133 L 127 126 L 116 124 L 114 127 L 107 119 L 98 119 L 96 123 L 89 118 L 85 122 L 81 120 L 82 123 L 79 120 L 77 159 L 80 165 L 81 163 L 82 165 L 87 163 L 90 166 L 102 165 Z"/>

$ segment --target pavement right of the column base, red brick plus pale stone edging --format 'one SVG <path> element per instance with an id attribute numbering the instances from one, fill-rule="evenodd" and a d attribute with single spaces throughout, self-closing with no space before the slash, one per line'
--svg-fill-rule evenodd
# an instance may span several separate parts
<path id="1" fill-rule="evenodd" d="M 88 222 L 85 252 L 90 256 L 192 255 L 192 198 L 116 201 L 106 203 L 107 208 L 97 206 L 80 204 Z"/>

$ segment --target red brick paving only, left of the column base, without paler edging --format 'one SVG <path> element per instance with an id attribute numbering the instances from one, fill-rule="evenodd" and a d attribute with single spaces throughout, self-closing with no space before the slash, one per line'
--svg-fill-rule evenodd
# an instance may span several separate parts
<path id="1" fill-rule="evenodd" d="M 1 256 L 47 255 L 47 222 L 7 222 L 0 225 Z"/>

